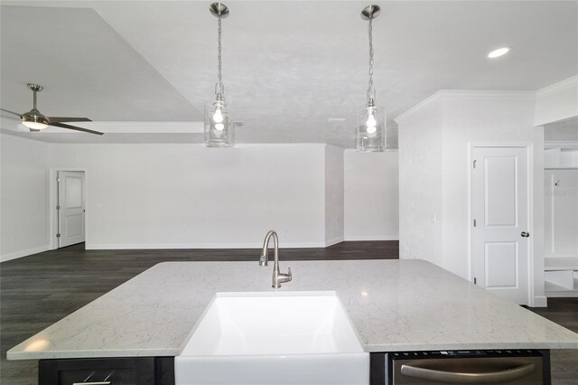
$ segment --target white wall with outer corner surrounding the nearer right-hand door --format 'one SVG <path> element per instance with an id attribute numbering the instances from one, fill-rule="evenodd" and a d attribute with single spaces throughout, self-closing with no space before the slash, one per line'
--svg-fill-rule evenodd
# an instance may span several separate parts
<path id="1" fill-rule="evenodd" d="M 468 154 L 472 144 L 532 146 L 534 217 L 529 231 L 543 234 L 544 129 L 534 127 L 534 108 L 534 95 L 527 92 L 440 91 L 396 119 L 400 258 L 424 258 L 471 278 Z M 541 301 L 543 237 L 532 240 L 535 296 Z"/>

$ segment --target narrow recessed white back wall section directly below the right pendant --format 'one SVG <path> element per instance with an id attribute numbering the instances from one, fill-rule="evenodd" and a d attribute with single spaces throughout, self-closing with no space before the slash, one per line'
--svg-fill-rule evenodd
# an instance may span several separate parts
<path id="1" fill-rule="evenodd" d="M 345 150 L 345 239 L 399 239 L 397 151 Z"/>

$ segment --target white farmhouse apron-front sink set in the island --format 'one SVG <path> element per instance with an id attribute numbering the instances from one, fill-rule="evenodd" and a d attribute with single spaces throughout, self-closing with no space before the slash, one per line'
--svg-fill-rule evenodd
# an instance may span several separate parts
<path id="1" fill-rule="evenodd" d="M 217 293 L 174 367 L 176 385 L 369 383 L 335 292 Z"/>

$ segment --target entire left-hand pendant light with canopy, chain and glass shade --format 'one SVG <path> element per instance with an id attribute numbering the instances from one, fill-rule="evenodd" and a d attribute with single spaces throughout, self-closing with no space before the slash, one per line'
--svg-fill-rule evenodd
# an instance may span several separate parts
<path id="1" fill-rule="evenodd" d="M 222 3 L 210 5 L 210 13 L 218 19 L 217 66 L 218 82 L 215 84 L 215 99 L 205 104 L 205 145 L 210 147 L 231 147 L 235 143 L 235 132 L 230 109 L 225 102 L 225 87 L 221 82 L 221 20 L 228 16 L 228 7 Z"/>

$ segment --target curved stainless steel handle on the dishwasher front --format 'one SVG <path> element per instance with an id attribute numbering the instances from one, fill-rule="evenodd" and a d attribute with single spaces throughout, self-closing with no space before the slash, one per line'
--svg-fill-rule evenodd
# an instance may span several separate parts
<path id="1" fill-rule="evenodd" d="M 459 371 L 435 371 L 433 369 L 418 368 L 411 365 L 402 365 L 401 373 L 408 377 L 438 382 L 452 382 L 461 384 L 497 383 L 521 379 L 536 371 L 536 364 L 525 363 L 505 371 L 490 371 L 486 373 L 463 373 Z"/>

